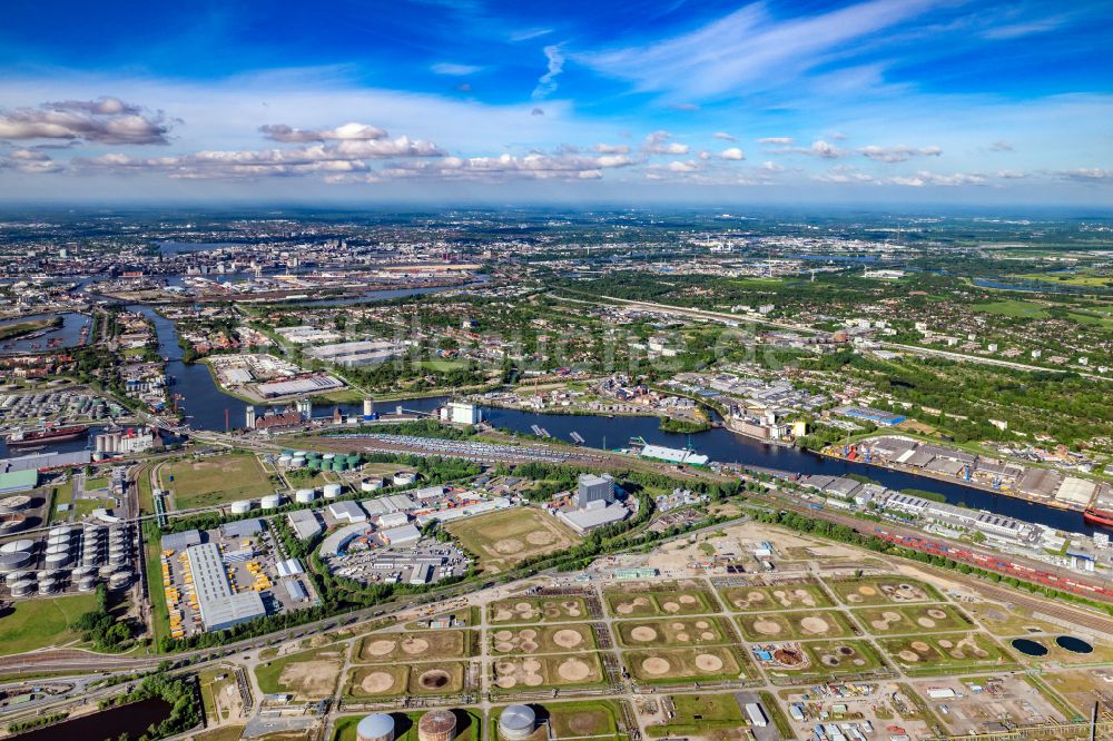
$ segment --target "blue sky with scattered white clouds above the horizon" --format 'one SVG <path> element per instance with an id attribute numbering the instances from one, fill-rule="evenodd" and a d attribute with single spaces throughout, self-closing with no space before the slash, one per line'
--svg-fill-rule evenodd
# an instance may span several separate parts
<path id="1" fill-rule="evenodd" d="M 0 197 L 1113 204 L 1113 2 L 10 0 Z"/>

